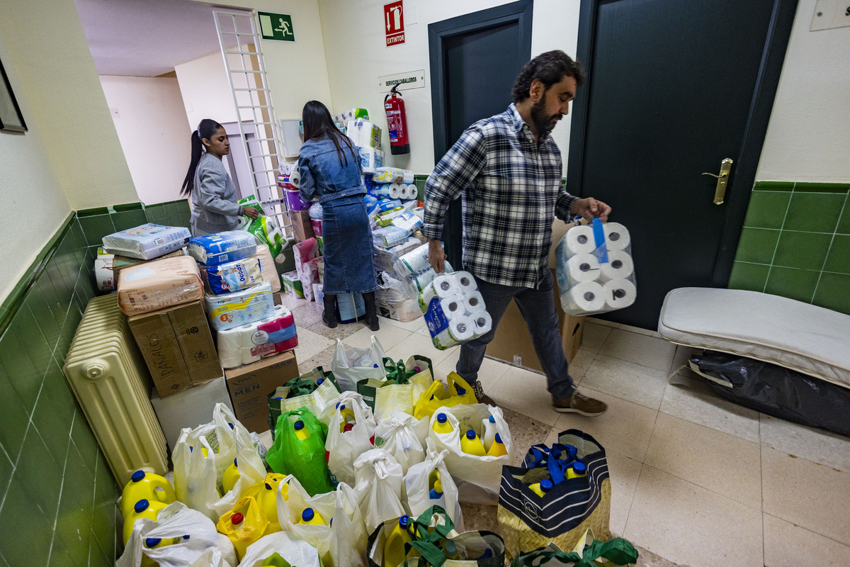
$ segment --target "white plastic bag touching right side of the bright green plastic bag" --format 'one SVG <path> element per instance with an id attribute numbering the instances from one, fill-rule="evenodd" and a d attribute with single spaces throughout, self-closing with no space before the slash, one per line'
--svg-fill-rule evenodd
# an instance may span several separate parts
<path id="1" fill-rule="evenodd" d="M 339 411 L 343 405 L 354 412 L 354 428 L 345 432 L 342 431 L 345 421 Z M 319 418 L 327 423 L 325 451 L 331 480 L 353 486 L 354 460 L 374 448 L 376 424 L 371 409 L 365 405 L 360 394 L 343 392 L 326 406 Z"/>

